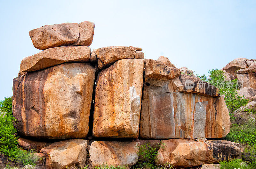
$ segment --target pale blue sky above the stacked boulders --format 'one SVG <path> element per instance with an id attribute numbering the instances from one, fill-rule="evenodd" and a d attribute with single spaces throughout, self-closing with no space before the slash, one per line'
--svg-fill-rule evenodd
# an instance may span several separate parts
<path id="1" fill-rule="evenodd" d="M 195 74 L 221 69 L 235 58 L 256 58 L 256 1 L 0 2 L 0 100 L 12 95 L 21 60 L 40 52 L 28 32 L 43 25 L 92 21 L 91 50 L 138 46 L 145 58 L 166 56 Z"/>

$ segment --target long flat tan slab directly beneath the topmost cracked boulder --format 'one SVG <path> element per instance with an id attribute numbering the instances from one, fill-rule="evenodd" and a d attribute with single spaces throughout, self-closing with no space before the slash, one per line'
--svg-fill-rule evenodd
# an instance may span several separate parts
<path id="1" fill-rule="evenodd" d="M 87 46 L 64 46 L 46 49 L 24 58 L 20 63 L 21 72 L 41 70 L 65 62 L 87 62 L 91 49 Z"/>

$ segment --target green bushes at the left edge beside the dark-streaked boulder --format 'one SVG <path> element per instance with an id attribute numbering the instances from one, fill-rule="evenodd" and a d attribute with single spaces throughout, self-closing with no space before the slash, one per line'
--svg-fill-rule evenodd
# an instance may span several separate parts
<path id="1" fill-rule="evenodd" d="M 0 102 L 0 111 L 4 112 L 0 115 L 0 154 L 5 155 L 5 158 L 8 157 L 11 163 L 34 165 L 38 160 L 33 154 L 34 151 L 25 151 L 18 147 L 17 140 L 19 137 L 16 136 L 17 130 L 13 126 L 16 119 L 12 115 L 11 97 L 7 97 Z M 1 156 L 1 158 L 3 158 L 3 156 Z M 1 159 L 1 161 L 3 161 L 3 159 Z"/>

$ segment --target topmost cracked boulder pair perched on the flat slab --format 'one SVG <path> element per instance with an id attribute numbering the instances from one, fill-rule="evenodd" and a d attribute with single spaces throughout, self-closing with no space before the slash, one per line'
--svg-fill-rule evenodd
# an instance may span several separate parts
<path id="1" fill-rule="evenodd" d="M 93 22 L 45 25 L 29 31 L 33 45 L 40 50 L 68 45 L 90 46 L 93 34 Z"/>

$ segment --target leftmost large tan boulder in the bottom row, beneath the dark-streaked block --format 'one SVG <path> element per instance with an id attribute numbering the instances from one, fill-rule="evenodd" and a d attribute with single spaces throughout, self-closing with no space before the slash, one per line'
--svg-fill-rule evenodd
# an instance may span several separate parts
<path id="1" fill-rule="evenodd" d="M 86 146 L 87 140 L 71 139 L 44 147 L 41 153 L 46 154 L 46 168 L 83 168 L 87 156 Z"/>

